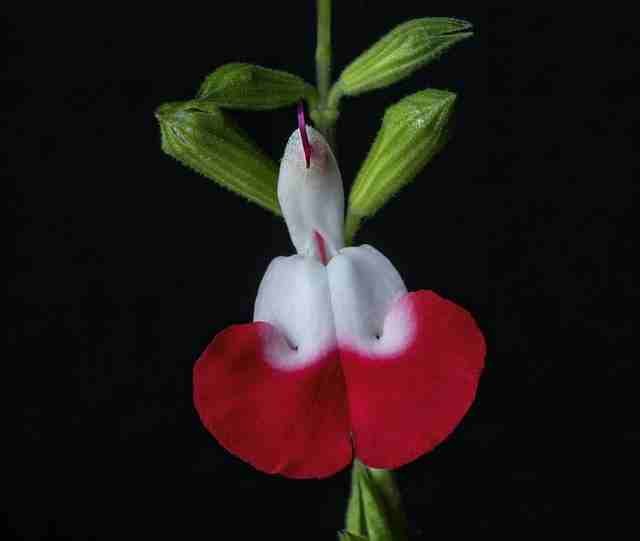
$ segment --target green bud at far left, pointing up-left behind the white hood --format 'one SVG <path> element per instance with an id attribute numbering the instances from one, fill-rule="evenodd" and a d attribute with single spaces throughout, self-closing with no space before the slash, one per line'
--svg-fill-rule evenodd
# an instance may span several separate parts
<path id="1" fill-rule="evenodd" d="M 187 167 L 280 215 L 276 164 L 222 111 L 199 100 L 156 110 L 162 150 Z"/>

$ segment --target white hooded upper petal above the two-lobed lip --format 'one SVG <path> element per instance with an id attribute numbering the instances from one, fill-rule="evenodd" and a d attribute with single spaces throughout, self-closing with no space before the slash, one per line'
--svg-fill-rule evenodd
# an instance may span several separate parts
<path id="1" fill-rule="evenodd" d="M 333 257 L 344 246 L 344 190 L 336 159 L 320 132 L 307 126 L 312 146 L 307 169 L 302 139 L 295 130 L 284 151 L 278 177 L 278 201 L 291 241 L 299 254 L 318 257 L 314 231 Z"/>

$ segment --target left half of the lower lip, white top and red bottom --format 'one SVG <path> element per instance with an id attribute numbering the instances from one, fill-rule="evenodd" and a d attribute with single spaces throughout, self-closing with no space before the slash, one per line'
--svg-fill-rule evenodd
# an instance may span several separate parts
<path id="1" fill-rule="evenodd" d="M 231 453 L 268 473 L 326 477 L 352 460 L 326 268 L 272 261 L 255 323 L 218 334 L 194 369 L 202 422 Z"/>

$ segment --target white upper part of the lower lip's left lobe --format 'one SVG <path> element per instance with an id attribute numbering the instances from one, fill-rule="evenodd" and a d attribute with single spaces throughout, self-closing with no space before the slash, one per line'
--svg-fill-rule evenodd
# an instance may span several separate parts
<path id="1" fill-rule="evenodd" d="M 267 345 L 274 366 L 297 369 L 322 358 L 336 346 L 326 267 L 300 255 L 274 259 L 260 283 L 253 320 L 281 333 L 283 339 Z"/>

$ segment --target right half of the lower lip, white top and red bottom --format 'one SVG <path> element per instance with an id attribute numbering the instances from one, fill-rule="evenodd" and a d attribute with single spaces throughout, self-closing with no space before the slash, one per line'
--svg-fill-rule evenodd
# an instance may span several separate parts
<path id="1" fill-rule="evenodd" d="M 486 348 L 468 312 L 431 291 L 403 294 L 391 263 L 363 248 L 342 250 L 329 281 L 356 456 L 392 469 L 461 421 Z"/>

